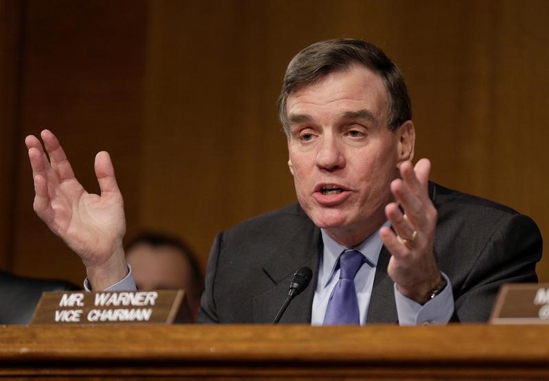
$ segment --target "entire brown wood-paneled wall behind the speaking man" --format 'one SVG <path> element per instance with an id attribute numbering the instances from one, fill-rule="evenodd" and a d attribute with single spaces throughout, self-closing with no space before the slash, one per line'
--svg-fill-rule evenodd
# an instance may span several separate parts
<path id="1" fill-rule="evenodd" d="M 44 127 L 89 191 L 110 152 L 128 236 L 178 234 L 205 266 L 216 232 L 294 201 L 275 101 L 290 58 L 336 37 L 401 67 L 433 180 L 546 236 L 548 17 L 544 0 L 0 0 L 0 267 L 84 276 L 32 210 L 23 138 Z"/>

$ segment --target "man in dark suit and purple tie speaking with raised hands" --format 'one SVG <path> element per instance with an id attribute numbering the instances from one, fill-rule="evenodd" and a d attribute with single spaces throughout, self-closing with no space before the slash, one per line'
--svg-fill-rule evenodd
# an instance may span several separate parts
<path id="1" fill-rule="evenodd" d="M 430 183 L 426 159 L 412 166 L 406 84 L 374 45 L 329 40 L 303 49 L 286 71 L 279 115 L 299 206 L 218 236 L 199 321 L 270 321 L 305 265 L 314 286 L 282 321 L 484 321 L 500 284 L 537 280 L 533 221 Z M 80 255 L 90 286 L 133 287 L 108 153 L 95 162 L 102 195 L 88 195 L 55 136 L 42 138 L 51 163 L 37 138 L 26 140 L 36 212 Z"/>

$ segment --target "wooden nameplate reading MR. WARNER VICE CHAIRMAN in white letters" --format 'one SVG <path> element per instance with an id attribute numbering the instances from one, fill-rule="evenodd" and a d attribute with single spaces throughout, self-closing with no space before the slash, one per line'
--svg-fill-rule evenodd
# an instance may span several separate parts
<path id="1" fill-rule="evenodd" d="M 185 291 L 46 292 L 32 324 L 191 323 Z"/>

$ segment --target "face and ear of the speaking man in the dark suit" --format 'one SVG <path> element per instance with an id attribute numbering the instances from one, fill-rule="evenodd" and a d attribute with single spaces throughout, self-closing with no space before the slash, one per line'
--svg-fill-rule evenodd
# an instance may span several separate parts
<path id="1" fill-rule="evenodd" d="M 359 65 L 296 91 L 286 112 L 299 204 L 336 241 L 358 245 L 386 220 L 397 165 L 412 158 L 412 123 L 388 130 L 382 79 Z"/>

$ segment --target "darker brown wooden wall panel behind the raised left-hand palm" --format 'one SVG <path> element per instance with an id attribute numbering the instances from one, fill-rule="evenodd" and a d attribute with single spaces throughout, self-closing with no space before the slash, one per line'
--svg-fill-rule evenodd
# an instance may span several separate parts
<path id="1" fill-rule="evenodd" d="M 82 283 L 82 262 L 32 210 L 26 134 L 47 127 L 60 138 L 78 179 L 97 193 L 93 160 L 115 158 L 128 228 L 139 219 L 139 141 L 146 32 L 144 1 L 26 1 L 22 125 L 11 270 Z"/>

